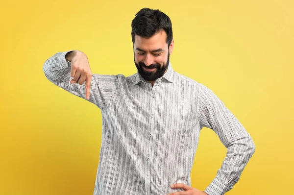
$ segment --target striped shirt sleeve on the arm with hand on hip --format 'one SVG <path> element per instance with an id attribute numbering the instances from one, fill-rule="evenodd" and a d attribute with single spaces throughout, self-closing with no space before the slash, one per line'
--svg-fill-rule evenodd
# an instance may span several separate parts
<path id="1" fill-rule="evenodd" d="M 199 89 L 200 129 L 212 129 L 227 148 L 217 176 L 205 189 L 208 195 L 223 195 L 239 181 L 255 144 L 238 119 L 209 88 L 200 84 Z"/>

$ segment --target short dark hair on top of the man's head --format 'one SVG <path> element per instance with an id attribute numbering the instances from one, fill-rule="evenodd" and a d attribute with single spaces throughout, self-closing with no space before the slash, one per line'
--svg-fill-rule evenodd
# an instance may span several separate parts
<path id="1" fill-rule="evenodd" d="M 161 30 L 167 33 L 167 44 L 172 43 L 171 19 L 159 9 L 143 8 L 132 20 L 132 41 L 135 43 L 135 34 L 140 37 L 149 38 Z"/>

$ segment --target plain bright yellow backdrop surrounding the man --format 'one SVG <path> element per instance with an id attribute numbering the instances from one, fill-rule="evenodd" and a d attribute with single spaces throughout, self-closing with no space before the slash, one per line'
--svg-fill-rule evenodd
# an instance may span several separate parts
<path id="1" fill-rule="evenodd" d="M 172 20 L 173 69 L 209 87 L 253 138 L 256 151 L 227 195 L 291 194 L 292 0 L 2 2 L 0 194 L 93 194 L 100 110 L 50 83 L 42 67 L 54 53 L 78 49 L 93 73 L 136 73 L 131 21 L 143 7 Z M 203 191 L 225 155 L 203 128 L 192 186 Z"/>

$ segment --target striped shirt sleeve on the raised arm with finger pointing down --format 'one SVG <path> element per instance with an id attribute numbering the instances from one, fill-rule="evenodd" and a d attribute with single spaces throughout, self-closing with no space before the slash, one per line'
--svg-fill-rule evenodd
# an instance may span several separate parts
<path id="1" fill-rule="evenodd" d="M 70 51 L 73 50 L 55 53 L 45 61 L 43 71 L 50 82 L 75 96 L 86 99 L 86 82 L 83 85 L 70 83 L 73 79 L 70 75 L 71 62 L 65 58 L 65 55 Z M 86 100 L 94 103 L 100 109 L 105 108 L 110 98 L 117 91 L 117 83 L 118 75 L 92 74 L 90 99 Z"/>

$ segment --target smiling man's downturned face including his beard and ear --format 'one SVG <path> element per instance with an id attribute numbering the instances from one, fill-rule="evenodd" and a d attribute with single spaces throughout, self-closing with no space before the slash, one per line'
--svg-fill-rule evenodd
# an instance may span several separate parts
<path id="1" fill-rule="evenodd" d="M 172 54 L 173 40 L 168 47 L 167 34 L 164 30 L 150 38 L 135 35 L 134 62 L 138 73 L 146 81 L 155 81 L 166 72 L 170 54 Z"/>

